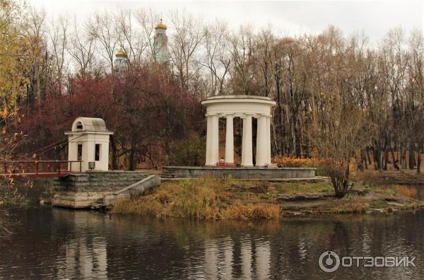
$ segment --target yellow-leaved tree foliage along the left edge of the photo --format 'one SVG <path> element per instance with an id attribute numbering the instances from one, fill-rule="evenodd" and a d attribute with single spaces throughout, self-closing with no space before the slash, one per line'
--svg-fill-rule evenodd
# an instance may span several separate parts
<path id="1" fill-rule="evenodd" d="M 10 160 L 16 148 L 25 141 L 17 117 L 19 101 L 25 96 L 27 84 L 25 13 L 23 6 L 0 0 L 0 161 Z M 4 176 L 0 181 L 0 237 L 11 233 L 8 205 L 12 201 L 19 203 L 18 199 L 20 193 L 13 186 L 13 178 Z"/>

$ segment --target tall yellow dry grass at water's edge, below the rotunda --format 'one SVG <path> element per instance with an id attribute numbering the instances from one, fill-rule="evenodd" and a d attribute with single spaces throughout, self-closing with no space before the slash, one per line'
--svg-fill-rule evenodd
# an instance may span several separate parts
<path id="1" fill-rule="evenodd" d="M 263 220 L 280 217 L 277 204 L 261 202 L 251 192 L 252 188 L 237 188 L 234 192 L 234 183 L 230 181 L 205 179 L 166 182 L 151 194 L 117 202 L 112 212 L 206 220 Z"/>

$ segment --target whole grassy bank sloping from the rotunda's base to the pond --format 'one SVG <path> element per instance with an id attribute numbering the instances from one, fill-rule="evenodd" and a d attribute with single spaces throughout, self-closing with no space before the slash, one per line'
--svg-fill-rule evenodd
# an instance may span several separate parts
<path id="1" fill-rule="evenodd" d="M 343 199 L 330 183 L 181 180 L 165 182 L 150 194 L 121 200 L 112 213 L 209 220 L 263 220 L 310 214 L 365 214 L 416 209 L 423 202 L 404 186 L 357 183 Z"/>

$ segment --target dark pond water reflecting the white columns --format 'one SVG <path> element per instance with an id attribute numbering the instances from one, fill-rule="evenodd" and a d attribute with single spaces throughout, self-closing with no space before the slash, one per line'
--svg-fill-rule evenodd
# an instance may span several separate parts
<path id="1" fill-rule="evenodd" d="M 418 279 L 424 211 L 264 223 L 110 216 L 31 206 L 1 240 L 0 279 Z M 319 269 L 319 255 L 410 256 L 416 267 Z"/>

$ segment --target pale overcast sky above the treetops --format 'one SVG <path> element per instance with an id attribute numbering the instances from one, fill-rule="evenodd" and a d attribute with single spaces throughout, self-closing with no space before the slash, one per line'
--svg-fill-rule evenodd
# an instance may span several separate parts
<path id="1" fill-rule="evenodd" d="M 163 13 L 185 9 L 206 21 L 220 18 L 233 28 L 252 23 L 258 28 L 269 23 L 289 35 L 319 33 L 329 25 L 343 30 L 345 35 L 365 31 L 372 43 L 380 40 L 390 28 L 406 31 L 424 28 L 423 1 L 96 1 L 96 0 L 28 0 L 37 9 L 44 8 L 48 16 L 67 13 L 85 18 L 94 11 L 150 7 Z"/>

